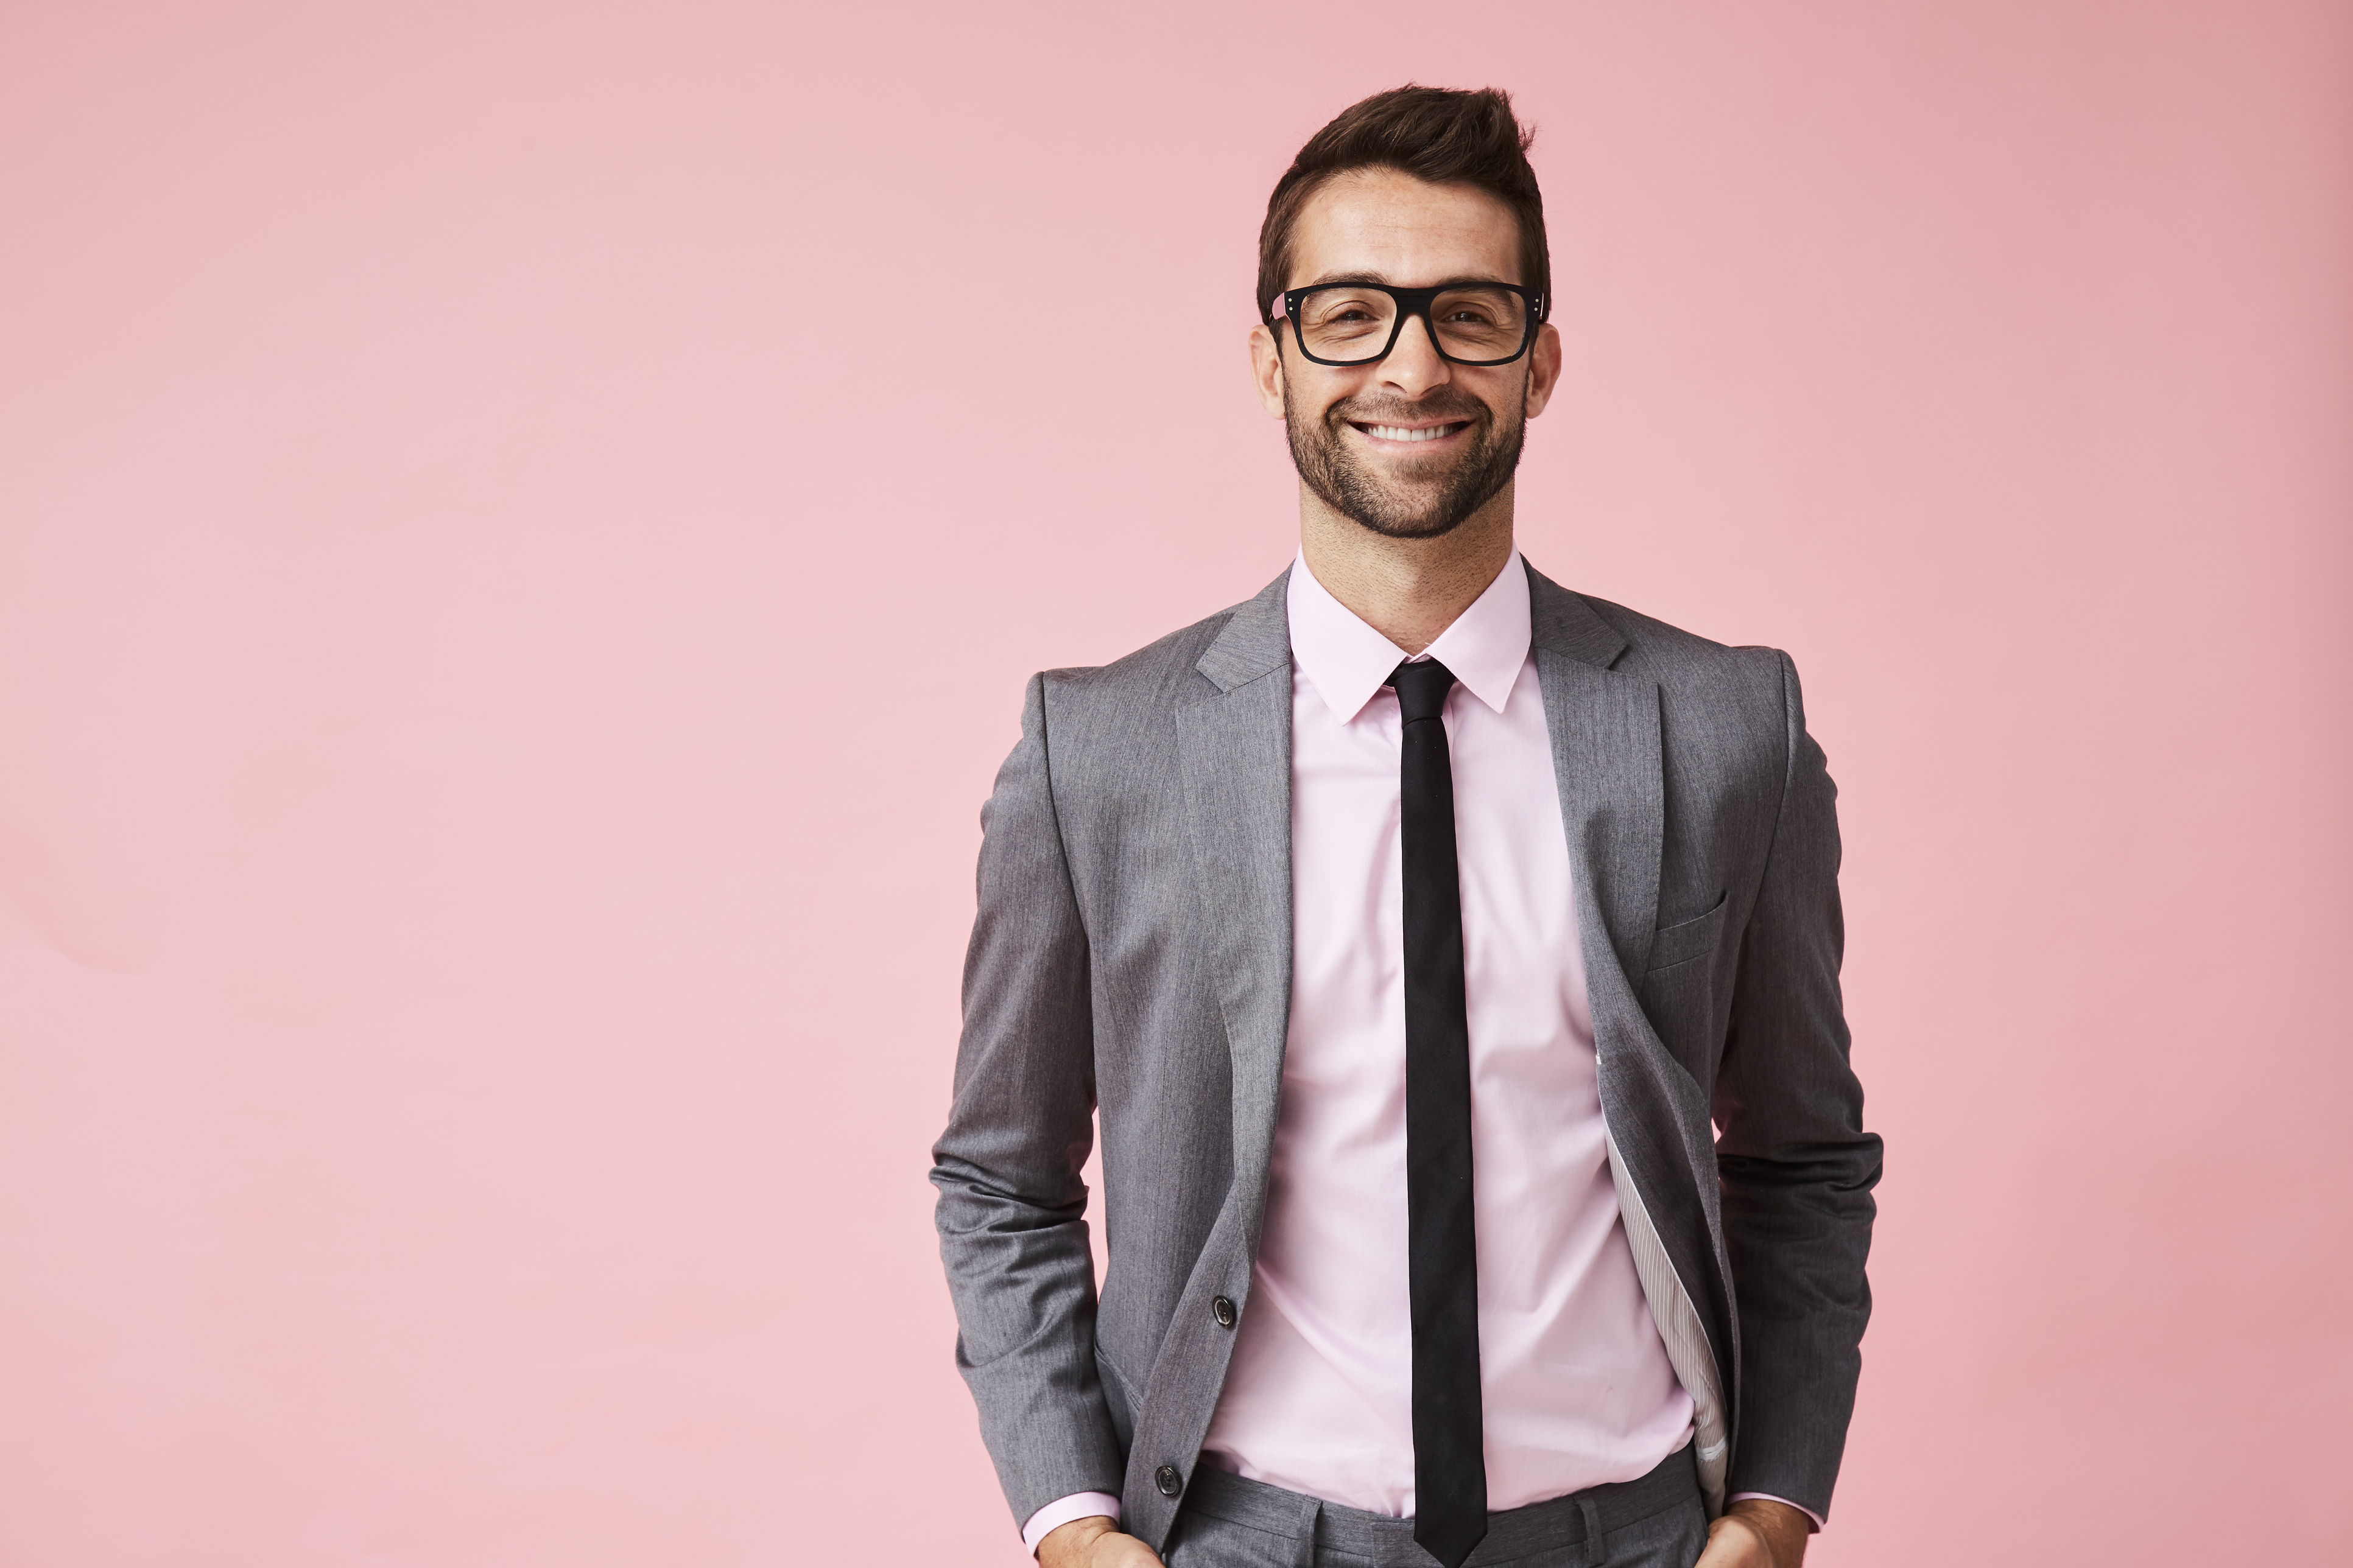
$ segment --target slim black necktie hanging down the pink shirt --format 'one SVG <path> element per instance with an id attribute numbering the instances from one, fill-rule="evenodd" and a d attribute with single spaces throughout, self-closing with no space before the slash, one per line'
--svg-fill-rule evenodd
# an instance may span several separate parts
<path id="1" fill-rule="evenodd" d="M 1414 1540 L 1461 1568 L 1487 1535 L 1478 1241 L 1471 1215 L 1471 1023 L 1454 860 L 1454 759 L 1438 661 L 1391 672 L 1405 745 L 1405 1225 L 1414 1305 Z"/>

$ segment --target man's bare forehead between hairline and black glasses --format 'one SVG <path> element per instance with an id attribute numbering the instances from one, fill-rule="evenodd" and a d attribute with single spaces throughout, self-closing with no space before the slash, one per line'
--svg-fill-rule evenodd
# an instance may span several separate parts
<path id="1" fill-rule="evenodd" d="M 1351 169 L 1308 197 L 1292 228 L 1285 287 L 1362 277 L 1400 287 L 1452 277 L 1520 277 L 1520 226 L 1499 197 L 1433 186 L 1398 169 Z"/>

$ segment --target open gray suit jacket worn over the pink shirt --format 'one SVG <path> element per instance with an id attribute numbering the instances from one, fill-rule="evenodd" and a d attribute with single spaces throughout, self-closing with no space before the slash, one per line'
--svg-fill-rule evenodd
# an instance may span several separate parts
<path id="1" fill-rule="evenodd" d="M 1249 1312 L 1292 994 L 1289 576 L 1028 686 L 981 813 L 934 1147 L 958 1363 L 1014 1519 L 1120 1493 L 1158 1547 Z M 1828 1512 L 1880 1140 L 1838 999 L 1838 818 L 1798 672 L 1529 569 L 1626 1237 L 1711 1507 Z M 1111 1267 L 1087 1190 L 1104 1131 Z M 1711 1126 L 1713 1124 L 1713 1126 Z"/>

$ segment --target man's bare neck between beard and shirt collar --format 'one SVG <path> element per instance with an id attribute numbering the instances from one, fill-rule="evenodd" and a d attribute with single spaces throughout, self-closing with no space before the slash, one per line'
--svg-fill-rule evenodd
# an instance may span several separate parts
<path id="1" fill-rule="evenodd" d="M 1471 609 L 1511 559 L 1511 491 L 1438 538 L 1391 538 L 1299 487 L 1299 552 L 1358 621 L 1419 654 Z"/>

